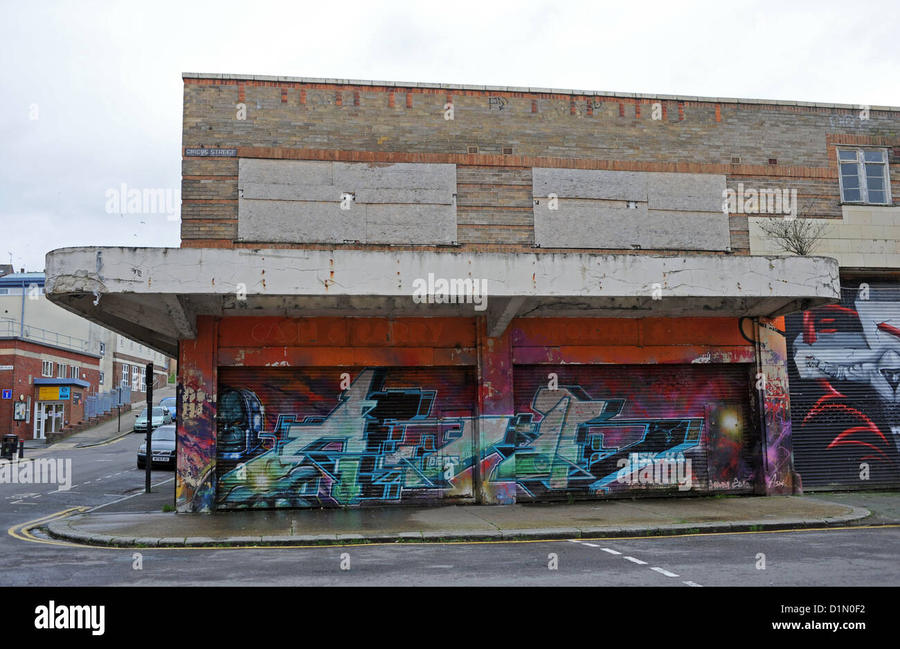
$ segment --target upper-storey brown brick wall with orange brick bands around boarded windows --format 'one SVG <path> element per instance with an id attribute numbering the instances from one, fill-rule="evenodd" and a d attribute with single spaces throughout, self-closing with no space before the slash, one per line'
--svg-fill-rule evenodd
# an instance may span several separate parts
<path id="1" fill-rule="evenodd" d="M 238 102 L 247 106 L 246 120 L 237 119 Z M 445 119 L 448 102 L 454 120 Z M 457 164 L 460 248 L 491 252 L 533 251 L 528 176 L 534 166 L 721 173 L 729 187 L 743 182 L 797 189 L 804 214 L 836 218 L 841 210 L 834 144 L 900 146 L 896 111 L 873 110 L 869 120 L 861 121 L 853 109 L 660 100 L 662 119 L 654 120 L 653 103 L 537 92 L 185 78 L 183 144 L 238 147 L 241 157 Z M 467 153 L 467 147 L 478 147 L 478 154 Z M 511 155 L 504 155 L 504 147 L 512 149 Z M 735 156 L 739 164 L 732 164 Z M 770 164 L 773 158 L 777 164 Z M 900 164 L 892 165 L 891 175 L 897 195 Z M 183 245 L 244 245 L 234 241 L 236 158 L 185 157 L 182 200 Z M 746 216 L 733 215 L 730 229 L 734 252 L 749 253 Z"/>

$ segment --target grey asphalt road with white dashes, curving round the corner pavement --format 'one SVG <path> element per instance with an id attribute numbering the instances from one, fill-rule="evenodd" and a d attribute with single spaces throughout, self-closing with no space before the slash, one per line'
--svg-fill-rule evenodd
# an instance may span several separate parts
<path id="1" fill-rule="evenodd" d="M 73 488 L 0 485 L 0 522 L 11 529 L 139 493 L 141 438 L 32 452 L 70 458 Z M 172 489 L 172 472 L 155 471 L 154 483 Z M 900 585 L 897 528 L 266 549 L 64 547 L 4 534 L 0 553 L 2 585 Z"/>

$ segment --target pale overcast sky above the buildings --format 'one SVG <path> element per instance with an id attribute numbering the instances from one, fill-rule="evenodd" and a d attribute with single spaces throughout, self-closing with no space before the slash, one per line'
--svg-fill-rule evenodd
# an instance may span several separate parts
<path id="1" fill-rule="evenodd" d="M 896 0 L 733 4 L 0 0 L 0 262 L 179 244 L 185 71 L 900 105 Z"/>

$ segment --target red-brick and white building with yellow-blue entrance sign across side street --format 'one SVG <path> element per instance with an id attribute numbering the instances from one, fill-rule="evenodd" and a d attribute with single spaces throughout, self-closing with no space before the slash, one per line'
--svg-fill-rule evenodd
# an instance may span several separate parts
<path id="1" fill-rule="evenodd" d="M 44 273 L 0 276 L 0 435 L 48 439 L 108 412 L 120 388 L 143 401 L 151 361 L 165 386 L 174 360 L 50 302 Z"/>

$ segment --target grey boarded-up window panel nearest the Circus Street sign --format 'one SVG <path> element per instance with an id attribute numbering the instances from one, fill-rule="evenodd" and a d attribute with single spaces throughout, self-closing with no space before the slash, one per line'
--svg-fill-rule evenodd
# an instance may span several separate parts
<path id="1" fill-rule="evenodd" d="M 456 241 L 455 164 L 241 158 L 238 190 L 246 241 Z"/>

